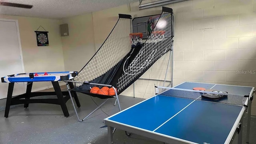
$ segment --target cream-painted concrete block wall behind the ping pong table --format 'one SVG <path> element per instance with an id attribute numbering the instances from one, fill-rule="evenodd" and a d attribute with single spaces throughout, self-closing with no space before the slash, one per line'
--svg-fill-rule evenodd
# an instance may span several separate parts
<path id="1" fill-rule="evenodd" d="M 166 6 L 175 16 L 174 86 L 190 81 L 256 87 L 256 0 L 188 0 Z M 154 96 L 154 84 L 163 85 L 169 55 L 135 82 L 136 97 Z M 133 90 L 132 85 L 122 94 L 133 96 Z M 252 105 L 256 115 L 256 100 Z"/>

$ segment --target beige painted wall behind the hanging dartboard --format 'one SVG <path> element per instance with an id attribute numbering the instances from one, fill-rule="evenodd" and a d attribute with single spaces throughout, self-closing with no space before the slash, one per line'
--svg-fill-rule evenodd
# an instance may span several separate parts
<path id="1" fill-rule="evenodd" d="M 0 18 L 18 20 L 25 72 L 64 71 L 59 20 L 0 15 Z M 37 46 L 35 30 L 43 26 L 49 33 L 49 46 Z M 43 31 L 42 28 L 39 31 Z M 33 90 L 52 87 L 50 82 L 34 82 Z"/>

